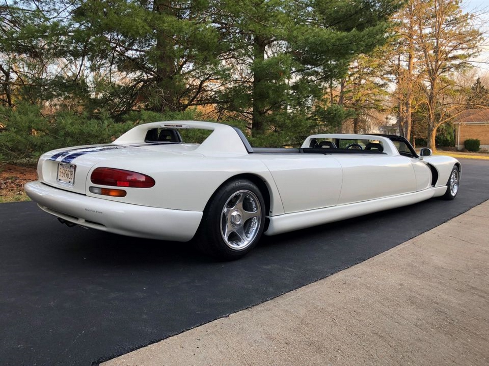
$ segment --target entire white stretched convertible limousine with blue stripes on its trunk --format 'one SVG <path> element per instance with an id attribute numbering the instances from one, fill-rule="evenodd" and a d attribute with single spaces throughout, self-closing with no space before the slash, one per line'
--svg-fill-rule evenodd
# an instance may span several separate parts
<path id="1" fill-rule="evenodd" d="M 205 130 L 200 143 L 185 135 Z M 190 134 L 189 136 L 192 136 Z M 461 165 L 400 136 L 318 134 L 300 148 L 253 148 L 235 127 L 138 125 L 109 144 L 39 159 L 27 195 L 65 224 L 193 242 L 221 259 L 260 236 L 457 195 Z"/>

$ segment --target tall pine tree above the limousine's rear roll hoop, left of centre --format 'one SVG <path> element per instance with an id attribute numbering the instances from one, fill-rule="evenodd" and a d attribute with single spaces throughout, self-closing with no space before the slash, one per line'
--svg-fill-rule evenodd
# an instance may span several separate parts
<path id="1" fill-rule="evenodd" d="M 108 72 L 114 112 L 138 104 L 182 111 L 207 102 L 222 49 L 208 10 L 200 0 L 79 2 L 79 38 L 90 65 Z"/>

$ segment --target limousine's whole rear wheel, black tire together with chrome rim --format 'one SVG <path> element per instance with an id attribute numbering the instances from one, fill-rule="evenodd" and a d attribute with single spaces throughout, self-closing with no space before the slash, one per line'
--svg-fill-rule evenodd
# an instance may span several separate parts
<path id="1" fill-rule="evenodd" d="M 254 183 L 244 179 L 227 182 L 207 203 L 195 243 L 219 260 L 242 258 L 260 240 L 265 215 L 262 193 Z"/>

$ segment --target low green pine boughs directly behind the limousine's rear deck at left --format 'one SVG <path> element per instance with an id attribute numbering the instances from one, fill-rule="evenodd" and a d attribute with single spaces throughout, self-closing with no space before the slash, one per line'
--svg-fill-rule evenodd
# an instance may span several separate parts
<path id="1" fill-rule="evenodd" d="M 34 163 L 48 150 L 68 146 L 109 143 L 140 123 L 199 119 L 195 110 L 164 114 L 140 111 L 114 122 L 109 113 L 94 119 L 88 114 L 61 110 L 44 116 L 39 106 L 20 103 L 0 106 L 0 164 Z"/>

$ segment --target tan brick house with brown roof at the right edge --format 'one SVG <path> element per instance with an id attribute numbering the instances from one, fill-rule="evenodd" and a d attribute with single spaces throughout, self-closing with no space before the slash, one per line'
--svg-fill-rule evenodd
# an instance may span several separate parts
<path id="1" fill-rule="evenodd" d="M 489 109 L 467 109 L 457 116 L 455 125 L 455 146 L 464 148 L 467 139 L 479 139 L 481 149 L 489 149 Z"/>

